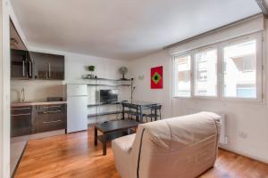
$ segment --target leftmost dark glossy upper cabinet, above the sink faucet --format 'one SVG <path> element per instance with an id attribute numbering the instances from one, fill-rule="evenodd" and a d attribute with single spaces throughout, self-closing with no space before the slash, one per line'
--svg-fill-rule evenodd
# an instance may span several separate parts
<path id="1" fill-rule="evenodd" d="M 11 49 L 11 77 L 20 79 L 33 77 L 33 61 L 28 51 Z"/>

